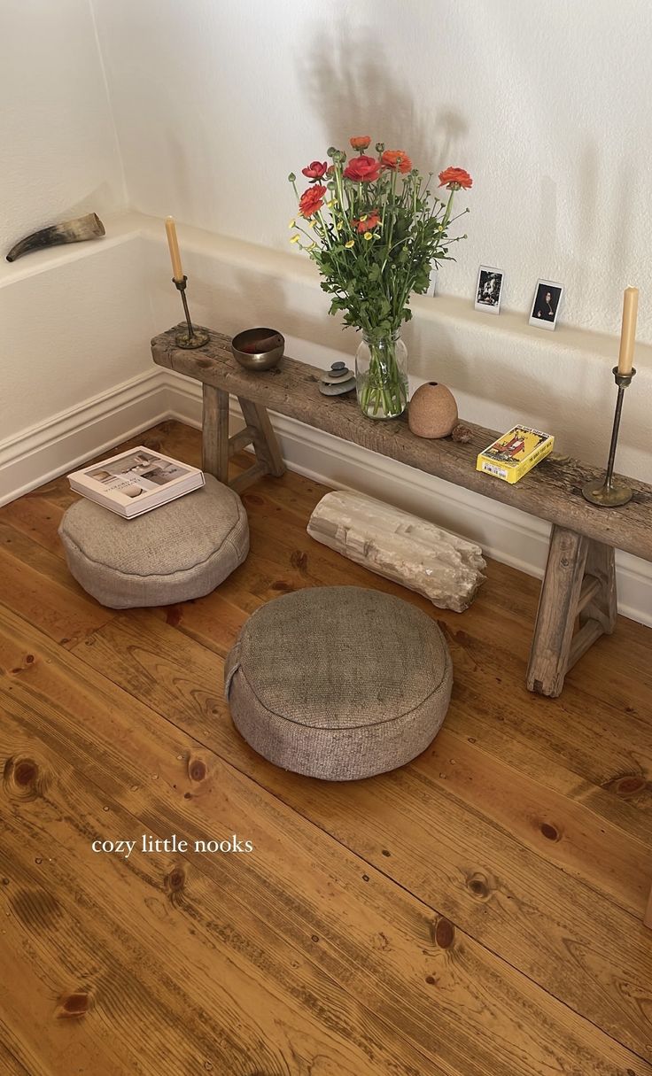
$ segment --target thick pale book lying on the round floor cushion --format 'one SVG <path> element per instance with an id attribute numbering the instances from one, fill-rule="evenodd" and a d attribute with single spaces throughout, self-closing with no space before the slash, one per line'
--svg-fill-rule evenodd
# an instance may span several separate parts
<path id="1" fill-rule="evenodd" d="M 204 484 L 203 472 L 144 445 L 83 467 L 70 486 L 125 519 L 142 515 Z"/>

